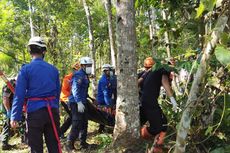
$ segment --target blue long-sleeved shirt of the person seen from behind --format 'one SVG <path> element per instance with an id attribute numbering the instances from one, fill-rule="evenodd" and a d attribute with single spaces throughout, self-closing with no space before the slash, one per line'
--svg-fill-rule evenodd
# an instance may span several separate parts
<path id="1" fill-rule="evenodd" d="M 19 121 L 25 98 L 47 98 L 52 108 L 59 107 L 60 82 L 58 70 L 51 64 L 36 58 L 30 64 L 24 65 L 17 78 L 15 95 L 12 105 L 11 120 Z M 27 112 L 36 111 L 47 106 L 45 100 L 28 100 Z"/>

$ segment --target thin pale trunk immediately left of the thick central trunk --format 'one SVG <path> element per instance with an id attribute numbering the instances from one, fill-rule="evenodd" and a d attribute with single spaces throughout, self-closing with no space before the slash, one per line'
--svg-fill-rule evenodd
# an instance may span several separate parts
<path id="1" fill-rule="evenodd" d="M 115 50 L 115 40 L 114 40 L 115 37 L 114 37 L 112 10 L 111 10 L 111 0 L 104 0 L 104 3 L 105 3 L 105 9 L 107 12 L 107 19 L 108 19 L 111 63 L 114 67 L 116 67 L 116 50 Z"/>

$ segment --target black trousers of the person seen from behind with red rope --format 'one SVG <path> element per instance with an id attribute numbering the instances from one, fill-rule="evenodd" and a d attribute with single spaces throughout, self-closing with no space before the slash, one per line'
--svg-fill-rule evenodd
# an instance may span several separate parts
<path id="1" fill-rule="evenodd" d="M 52 108 L 56 128 L 59 131 L 59 110 Z M 51 119 L 46 107 L 28 113 L 28 144 L 31 153 L 43 153 L 43 135 L 49 153 L 58 153 L 58 143 L 54 135 Z"/>

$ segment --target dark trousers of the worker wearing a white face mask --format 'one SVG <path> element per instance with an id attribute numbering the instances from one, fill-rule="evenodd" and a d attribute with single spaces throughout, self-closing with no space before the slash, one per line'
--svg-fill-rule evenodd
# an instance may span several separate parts
<path id="1" fill-rule="evenodd" d="M 74 142 L 79 138 L 80 143 L 86 143 L 87 128 L 88 128 L 88 108 L 85 105 L 85 111 L 83 113 L 78 112 L 77 103 L 70 103 L 72 113 L 72 127 L 68 135 L 67 140 Z"/>

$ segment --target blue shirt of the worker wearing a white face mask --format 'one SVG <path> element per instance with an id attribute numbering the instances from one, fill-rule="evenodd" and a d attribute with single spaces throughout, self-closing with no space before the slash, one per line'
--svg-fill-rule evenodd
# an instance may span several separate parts
<path id="1" fill-rule="evenodd" d="M 71 103 L 86 103 L 88 97 L 89 78 L 83 69 L 75 71 L 72 78 L 72 92 L 69 96 Z"/>

